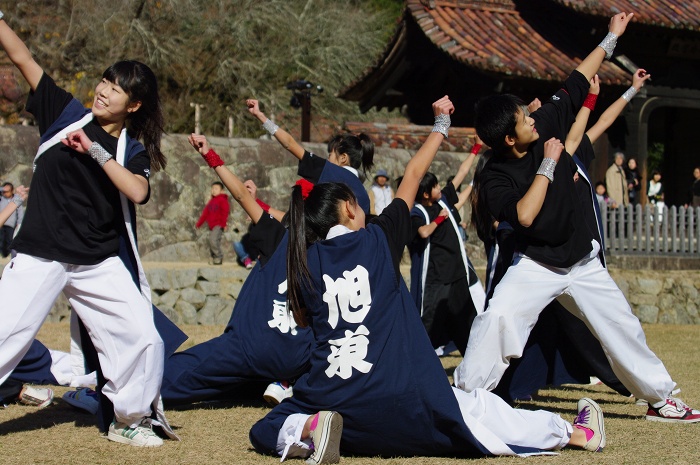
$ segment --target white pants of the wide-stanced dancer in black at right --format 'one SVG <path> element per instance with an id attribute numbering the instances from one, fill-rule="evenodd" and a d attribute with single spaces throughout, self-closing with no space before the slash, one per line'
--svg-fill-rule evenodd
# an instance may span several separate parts
<path id="1" fill-rule="evenodd" d="M 596 253 L 570 268 L 517 255 L 488 309 L 474 319 L 464 360 L 454 372 L 455 386 L 467 392 L 495 388 L 510 359 L 522 356 L 540 312 L 568 294 L 579 309 L 576 316 L 601 342 L 622 384 L 652 404 L 670 396 L 675 383 L 647 346 L 639 319 Z"/>

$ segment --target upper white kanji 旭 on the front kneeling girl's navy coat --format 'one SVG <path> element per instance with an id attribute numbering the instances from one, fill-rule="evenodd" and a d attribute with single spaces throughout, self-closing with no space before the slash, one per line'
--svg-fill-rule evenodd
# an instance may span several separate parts
<path id="1" fill-rule="evenodd" d="M 352 271 L 343 271 L 343 277 L 336 280 L 324 274 L 323 282 L 326 285 L 323 301 L 328 304 L 331 328 L 338 325 L 339 316 L 348 323 L 362 323 L 372 305 L 367 269 L 357 265 Z"/>

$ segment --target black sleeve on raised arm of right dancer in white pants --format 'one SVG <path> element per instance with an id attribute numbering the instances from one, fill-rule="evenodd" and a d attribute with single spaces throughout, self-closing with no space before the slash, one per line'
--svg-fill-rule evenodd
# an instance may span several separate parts
<path id="1" fill-rule="evenodd" d="M 561 89 L 532 113 L 542 143 L 552 137 L 566 139 L 566 134 L 574 123 L 576 113 L 581 109 L 589 88 L 590 83 L 586 76 L 574 70 Z"/>

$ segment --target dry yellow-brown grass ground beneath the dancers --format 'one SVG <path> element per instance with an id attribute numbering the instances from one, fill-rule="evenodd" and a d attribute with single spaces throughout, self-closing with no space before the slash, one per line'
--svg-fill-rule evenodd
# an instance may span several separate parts
<path id="1" fill-rule="evenodd" d="M 183 348 L 220 334 L 221 327 L 183 328 L 190 340 Z M 683 389 L 680 397 L 692 406 L 700 406 L 700 326 L 647 326 L 649 345 L 664 360 Z M 40 339 L 49 347 L 68 349 L 67 324 L 45 324 Z M 443 358 L 451 373 L 458 357 Z M 60 400 L 67 388 L 56 388 L 54 405 L 37 410 L 12 405 L 0 410 L 0 457 L 4 464 L 275 464 L 279 459 L 252 451 L 248 431 L 269 410 L 258 400 L 246 396 L 240 402 L 199 404 L 187 409 L 168 410 L 168 418 L 182 442 L 166 441 L 158 449 L 138 449 L 109 442 L 98 434 L 93 417 L 73 409 Z M 694 464 L 700 462 L 700 424 L 668 425 L 643 419 L 644 407 L 602 386 L 570 386 L 542 390 L 532 402 L 520 408 L 545 408 L 572 420 L 575 402 L 580 397 L 597 400 L 606 415 L 608 446 L 600 454 L 564 450 L 557 457 L 489 458 L 478 463 L 556 465 L 595 464 Z M 381 440 L 381 438 L 377 438 Z M 343 457 L 345 464 L 399 465 L 464 463 L 465 460 L 411 457 L 377 459 Z M 302 463 L 293 461 L 291 463 Z"/>

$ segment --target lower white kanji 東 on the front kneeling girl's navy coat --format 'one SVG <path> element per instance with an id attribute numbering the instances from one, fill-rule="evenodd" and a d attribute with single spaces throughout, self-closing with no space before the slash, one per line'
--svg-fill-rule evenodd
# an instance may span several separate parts
<path id="1" fill-rule="evenodd" d="M 338 375 L 348 379 L 352 376 L 353 368 L 361 373 L 368 373 L 372 368 L 372 364 L 365 361 L 369 346 L 368 335 L 369 330 L 360 325 L 355 332 L 345 330 L 344 338 L 328 341 L 331 353 L 327 358 L 329 365 L 326 368 L 326 376 L 332 378 Z"/>

